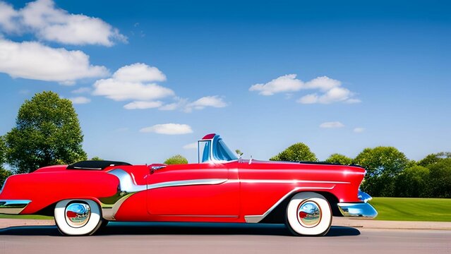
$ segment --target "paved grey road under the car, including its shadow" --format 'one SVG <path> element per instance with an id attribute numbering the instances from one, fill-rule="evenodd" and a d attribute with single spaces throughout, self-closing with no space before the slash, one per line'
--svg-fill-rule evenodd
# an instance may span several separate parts
<path id="1" fill-rule="evenodd" d="M 112 223 L 97 236 L 61 237 L 55 226 L 0 230 L 11 253 L 451 253 L 451 231 L 332 226 L 324 237 L 289 236 L 282 225 Z"/>

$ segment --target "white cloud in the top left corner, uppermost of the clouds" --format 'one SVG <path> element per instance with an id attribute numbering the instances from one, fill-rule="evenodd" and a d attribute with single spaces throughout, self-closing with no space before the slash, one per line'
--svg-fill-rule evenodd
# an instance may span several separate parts
<path id="1" fill-rule="evenodd" d="M 0 2 L 0 25 L 6 32 L 32 32 L 41 40 L 64 44 L 100 44 L 112 46 L 126 42 L 119 30 L 100 18 L 71 14 L 56 8 L 52 0 L 37 0 L 16 11 Z M 1 15 L 0 15 L 1 16 Z"/>

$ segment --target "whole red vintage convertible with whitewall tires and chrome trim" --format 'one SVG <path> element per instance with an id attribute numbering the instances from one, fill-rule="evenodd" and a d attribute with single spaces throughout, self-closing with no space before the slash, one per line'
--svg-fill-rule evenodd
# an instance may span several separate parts
<path id="1" fill-rule="evenodd" d="M 116 222 L 285 223 L 323 236 L 332 216 L 375 217 L 359 191 L 365 169 L 241 159 L 220 135 L 198 141 L 196 164 L 84 161 L 6 179 L 2 214 L 53 215 L 62 234 L 94 234 Z"/>

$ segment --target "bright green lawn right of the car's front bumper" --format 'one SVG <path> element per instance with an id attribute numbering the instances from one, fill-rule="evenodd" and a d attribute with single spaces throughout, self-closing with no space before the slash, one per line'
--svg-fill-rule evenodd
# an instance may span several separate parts
<path id="1" fill-rule="evenodd" d="M 379 220 L 451 222 L 451 199 L 373 198 Z"/>

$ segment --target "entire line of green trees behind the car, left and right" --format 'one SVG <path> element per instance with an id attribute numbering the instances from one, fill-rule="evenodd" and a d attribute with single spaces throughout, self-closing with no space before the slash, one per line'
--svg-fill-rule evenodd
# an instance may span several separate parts
<path id="1" fill-rule="evenodd" d="M 72 102 L 55 92 L 37 93 L 20 107 L 16 126 L 0 136 L 0 188 L 11 174 L 87 159 L 82 143 L 83 133 Z M 303 143 L 291 145 L 270 160 L 318 161 Z M 355 158 L 333 154 L 325 162 L 364 167 L 367 174 L 361 189 L 376 197 L 451 198 L 451 152 L 431 154 L 416 162 L 395 147 L 373 147 L 365 148 Z M 188 161 L 175 155 L 164 163 Z M 4 169 L 4 164 L 10 169 Z"/>

